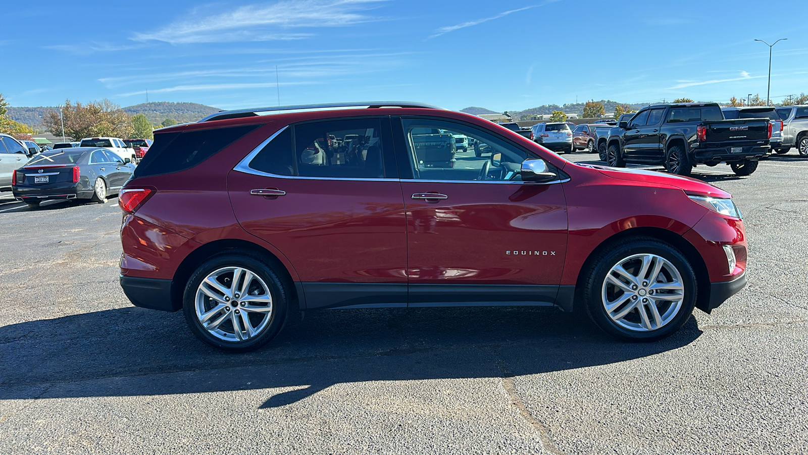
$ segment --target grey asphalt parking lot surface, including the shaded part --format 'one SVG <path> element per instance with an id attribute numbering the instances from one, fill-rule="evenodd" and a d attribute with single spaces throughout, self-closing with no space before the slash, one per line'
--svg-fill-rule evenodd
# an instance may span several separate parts
<path id="1" fill-rule="evenodd" d="M 808 159 L 696 176 L 743 211 L 749 285 L 663 342 L 553 308 L 343 310 L 247 355 L 128 303 L 116 198 L 0 193 L 0 452 L 806 453 Z"/>

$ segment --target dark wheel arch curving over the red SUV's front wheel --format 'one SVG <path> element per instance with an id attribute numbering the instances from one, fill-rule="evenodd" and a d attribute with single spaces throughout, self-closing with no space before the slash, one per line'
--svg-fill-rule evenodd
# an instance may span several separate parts
<path id="1" fill-rule="evenodd" d="M 696 273 L 696 308 L 707 308 L 709 305 L 710 294 L 709 273 L 704 258 L 701 257 L 701 254 L 698 252 L 696 247 L 676 232 L 672 232 L 664 228 L 638 227 L 617 232 L 600 242 L 595 249 L 592 249 L 587 256 L 587 259 L 583 262 L 583 266 L 581 266 L 578 272 L 578 279 L 575 281 L 574 309 L 578 308 L 579 305 L 582 305 L 581 299 L 583 296 L 581 296 L 579 292 L 583 289 L 583 282 L 586 279 L 587 272 L 592 267 L 594 258 L 599 253 L 610 248 L 620 240 L 640 236 L 662 240 L 663 242 L 672 245 L 675 249 L 678 249 L 680 253 L 684 254 L 684 257 L 688 259 L 688 262 L 690 262 L 690 265 L 693 267 L 693 271 Z"/>

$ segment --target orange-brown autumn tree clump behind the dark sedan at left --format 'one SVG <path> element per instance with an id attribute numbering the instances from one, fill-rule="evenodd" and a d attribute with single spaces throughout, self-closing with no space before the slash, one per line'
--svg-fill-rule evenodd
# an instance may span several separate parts
<path id="1" fill-rule="evenodd" d="M 62 117 L 65 121 L 65 136 L 74 141 L 98 136 L 128 138 L 132 134 L 129 114 L 107 99 L 87 104 L 73 104 L 70 100 L 65 100 Z M 61 136 L 59 111 L 50 110 L 45 113 L 42 123 L 51 134 Z"/>

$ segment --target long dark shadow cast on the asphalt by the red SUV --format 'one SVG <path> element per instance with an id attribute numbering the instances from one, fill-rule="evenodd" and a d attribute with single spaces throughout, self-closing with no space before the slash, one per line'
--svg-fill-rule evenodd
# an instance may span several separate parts
<path id="1" fill-rule="evenodd" d="M 0 327 L 0 400 L 268 391 L 260 407 L 364 381 L 500 378 L 639 359 L 688 345 L 694 318 L 660 342 L 608 337 L 555 308 L 309 313 L 267 347 L 227 354 L 182 313 L 117 308 Z"/>

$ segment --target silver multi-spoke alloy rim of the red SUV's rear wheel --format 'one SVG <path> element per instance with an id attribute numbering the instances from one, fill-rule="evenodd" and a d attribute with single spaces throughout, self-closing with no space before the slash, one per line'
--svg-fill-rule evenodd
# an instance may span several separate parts
<path id="1" fill-rule="evenodd" d="M 261 334 L 272 311 L 267 283 L 242 267 L 214 270 L 196 290 L 198 321 L 209 334 L 224 341 L 242 342 Z"/>

